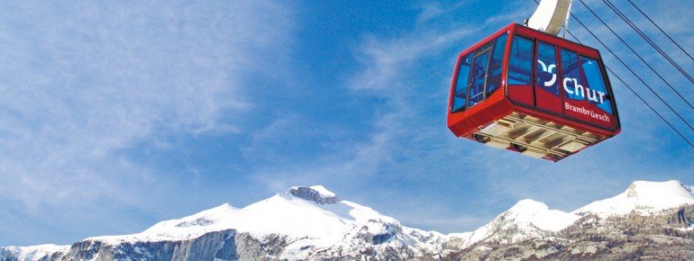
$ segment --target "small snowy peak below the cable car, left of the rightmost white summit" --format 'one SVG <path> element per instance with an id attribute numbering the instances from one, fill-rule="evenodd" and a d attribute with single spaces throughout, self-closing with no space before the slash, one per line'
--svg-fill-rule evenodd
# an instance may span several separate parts
<path id="1" fill-rule="evenodd" d="M 547 232 L 566 229 L 579 219 L 579 215 L 550 210 L 543 202 L 526 199 L 472 232 L 464 241 L 463 247 L 480 241 L 513 243 L 528 238 L 542 238 Z"/>

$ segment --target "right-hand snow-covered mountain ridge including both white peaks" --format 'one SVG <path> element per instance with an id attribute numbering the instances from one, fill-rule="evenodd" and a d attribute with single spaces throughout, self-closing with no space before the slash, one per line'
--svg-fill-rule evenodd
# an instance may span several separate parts
<path id="1" fill-rule="evenodd" d="M 462 247 L 482 242 L 513 244 L 533 238 L 552 237 L 589 214 L 603 218 L 628 214 L 647 216 L 672 211 L 682 205 L 694 205 L 694 193 L 691 186 L 678 181 L 635 181 L 624 193 L 591 202 L 572 212 L 550 210 L 543 202 L 526 199 L 476 229 L 463 240 Z"/>

